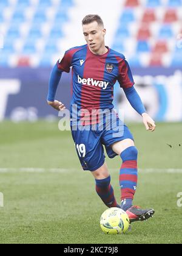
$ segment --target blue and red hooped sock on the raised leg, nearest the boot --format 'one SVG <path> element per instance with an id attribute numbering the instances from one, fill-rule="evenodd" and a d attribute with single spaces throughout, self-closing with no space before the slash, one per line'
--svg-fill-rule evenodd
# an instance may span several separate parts
<path id="1" fill-rule="evenodd" d="M 123 160 L 120 169 L 121 208 L 126 211 L 132 207 L 132 201 L 136 191 L 138 181 L 138 151 L 135 146 L 131 146 L 125 149 L 120 156 Z"/>

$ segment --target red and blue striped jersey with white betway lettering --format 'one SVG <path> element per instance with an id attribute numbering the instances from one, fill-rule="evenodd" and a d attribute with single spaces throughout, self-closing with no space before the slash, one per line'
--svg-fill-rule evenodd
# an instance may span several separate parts
<path id="1" fill-rule="evenodd" d="M 59 59 L 57 66 L 61 71 L 70 72 L 72 66 L 72 105 L 77 110 L 112 109 L 113 85 L 116 80 L 120 87 L 132 87 L 133 77 L 123 54 L 108 48 L 106 54 L 93 54 L 87 44 L 71 48 Z"/>

